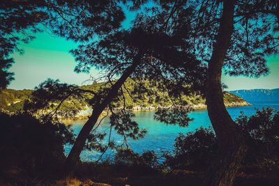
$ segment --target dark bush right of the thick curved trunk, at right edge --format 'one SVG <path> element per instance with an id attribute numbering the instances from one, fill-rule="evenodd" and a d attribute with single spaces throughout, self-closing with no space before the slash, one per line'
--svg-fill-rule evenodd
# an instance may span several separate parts
<path id="1" fill-rule="evenodd" d="M 279 112 L 272 108 L 257 109 L 251 117 L 241 114 L 236 123 L 248 131 L 252 139 L 244 164 L 266 170 L 279 169 Z"/>

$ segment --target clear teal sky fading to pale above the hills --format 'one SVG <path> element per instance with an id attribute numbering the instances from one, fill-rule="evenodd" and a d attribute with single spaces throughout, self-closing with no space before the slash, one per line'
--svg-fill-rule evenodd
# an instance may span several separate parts
<path id="1" fill-rule="evenodd" d="M 122 23 L 123 28 L 130 26 L 136 13 L 124 8 L 126 20 Z M 8 88 L 13 89 L 33 89 L 47 78 L 60 79 L 68 84 L 82 85 L 90 77 L 98 77 L 98 71 L 91 69 L 89 74 L 74 72 L 75 59 L 69 53 L 70 49 L 75 49 L 77 44 L 73 41 L 53 36 L 51 33 L 37 33 L 36 39 L 28 44 L 20 45 L 24 54 L 15 53 L 13 58 L 15 63 L 10 68 L 15 72 L 15 80 Z M 279 55 L 271 56 L 267 59 L 269 75 L 259 78 L 229 77 L 223 75 L 223 83 L 229 88 L 227 91 L 254 88 L 279 88 Z M 88 82 L 87 82 L 88 83 Z"/>

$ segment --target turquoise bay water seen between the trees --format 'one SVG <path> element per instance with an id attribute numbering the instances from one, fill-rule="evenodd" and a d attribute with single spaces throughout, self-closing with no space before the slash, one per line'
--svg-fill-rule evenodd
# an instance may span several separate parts
<path id="1" fill-rule="evenodd" d="M 229 107 L 227 110 L 232 118 L 236 118 L 240 115 L 240 112 L 243 111 L 244 114 L 251 116 L 255 114 L 255 108 L 262 109 L 262 107 L 273 107 L 274 109 L 279 111 L 279 102 L 251 102 L 253 105 L 248 107 Z M 198 127 L 209 127 L 211 123 L 209 121 L 209 116 L 207 115 L 206 110 L 193 111 L 189 114 L 190 118 L 194 120 L 190 122 L 188 127 L 179 127 L 179 125 L 166 125 L 165 123 L 160 123 L 159 121 L 153 120 L 154 111 L 136 111 L 135 112 L 135 121 L 139 123 L 140 128 L 145 128 L 147 130 L 147 134 L 143 139 L 139 140 L 128 140 L 128 145 L 130 148 L 136 153 L 142 153 L 146 150 L 154 150 L 156 155 L 158 155 L 159 160 L 162 159 L 162 154 L 164 151 L 171 151 L 174 149 L 174 139 L 179 135 L 179 133 L 186 133 L 195 131 Z M 86 121 L 73 121 L 72 127 L 75 134 L 80 132 L 82 125 Z M 107 132 L 109 133 L 110 127 L 108 125 L 108 119 L 105 119 L 103 123 L 98 127 L 99 132 Z M 116 142 L 116 144 L 123 144 L 123 137 L 119 134 L 116 134 L 114 130 L 112 130 L 112 141 Z M 107 142 L 105 139 L 104 143 Z M 71 146 L 65 146 L 65 153 L 68 154 Z M 104 158 L 112 158 L 114 155 L 114 151 L 107 150 Z M 84 150 L 81 154 L 81 160 L 86 162 L 93 162 L 98 160 L 100 157 L 100 153 L 97 153 L 93 150 Z"/>

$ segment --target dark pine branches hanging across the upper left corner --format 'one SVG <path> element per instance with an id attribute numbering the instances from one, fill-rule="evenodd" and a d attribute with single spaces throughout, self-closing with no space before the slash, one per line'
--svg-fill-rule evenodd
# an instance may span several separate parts
<path id="1" fill-rule="evenodd" d="M 124 15 L 117 1 L 77 0 L 3 0 L 0 5 L 0 78 L 1 88 L 13 80 L 8 69 L 14 52 L 22 53 L 20 43 L 34 33 L 48 31 L 75 41 L 104 36 L 118 29 Z"/>

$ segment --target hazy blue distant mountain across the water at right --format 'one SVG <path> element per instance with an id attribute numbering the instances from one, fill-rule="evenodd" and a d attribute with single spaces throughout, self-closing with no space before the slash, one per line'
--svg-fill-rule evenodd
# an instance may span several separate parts
<path id="1" fill-rule="evenodd" d="M 276 89 L 251 89 L 229 91 L 235 95 L 240 96 L 248 102 L 255 101 L 279 101 L 279 88 Z"/>

